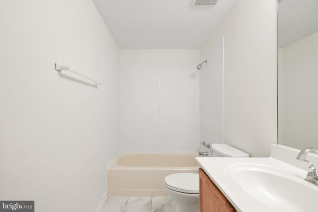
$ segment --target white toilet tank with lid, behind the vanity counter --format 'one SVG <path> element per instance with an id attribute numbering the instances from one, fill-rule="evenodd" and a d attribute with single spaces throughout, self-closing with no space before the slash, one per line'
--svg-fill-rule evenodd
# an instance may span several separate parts
<path id="1" fill-rule="evenodd" d="M 211 145 L 213 157 L 249 157 L 249 155 L 228 144 L 213 143 Z"/>

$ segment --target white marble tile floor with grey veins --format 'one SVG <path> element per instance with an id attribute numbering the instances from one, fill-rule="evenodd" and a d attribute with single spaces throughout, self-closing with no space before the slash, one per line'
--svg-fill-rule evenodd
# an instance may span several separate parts
<path id="1" fill-rule="evenodd" d="M 170 197 L 108 197 L 99 212 L 175 212 Z"/>

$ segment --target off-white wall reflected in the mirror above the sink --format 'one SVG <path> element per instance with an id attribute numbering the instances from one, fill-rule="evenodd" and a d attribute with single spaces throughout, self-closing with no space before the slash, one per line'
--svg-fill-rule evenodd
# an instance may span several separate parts
<path id="1" fill-rule="evenodd" d="M 280 49 L 279 144 L 298 149 L 304 147 L 304 142 L 307 146 L 317 146 L 317 40 L 318 32 Z"/>

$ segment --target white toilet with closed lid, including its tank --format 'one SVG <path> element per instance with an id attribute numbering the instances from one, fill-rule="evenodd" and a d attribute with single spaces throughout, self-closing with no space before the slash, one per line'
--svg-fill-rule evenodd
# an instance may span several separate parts
<path id="1" fill-rule="evenodd" d="M 213 157 L 249 157 L 227 144 L 211 145 Z M 164 178 L 164 190 L 175 202 L 175 212 L 199 212 L 199 174 L 176 173 Z"/>

